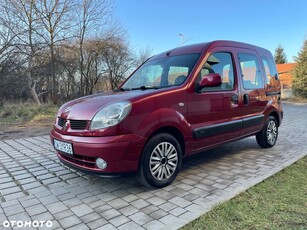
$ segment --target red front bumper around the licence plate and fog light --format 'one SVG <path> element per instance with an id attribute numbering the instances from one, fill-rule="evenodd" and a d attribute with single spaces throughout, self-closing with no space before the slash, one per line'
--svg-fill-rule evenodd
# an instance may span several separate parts
<path id="1" fill-rule="evenodd" d="M 101 176 L 136 171 L 146 142 L 146 138 L 136 134 L 80 137 L 63 135 L 55 130 L 51 131 L 50 138 L 52 145 L 56 139 L 73 146 L 72 155 L 56 150 L 61 162 L 80 171 Z M 95 163 L 97 158 L 105 160 L 107 168 L 98 168 Z"/>

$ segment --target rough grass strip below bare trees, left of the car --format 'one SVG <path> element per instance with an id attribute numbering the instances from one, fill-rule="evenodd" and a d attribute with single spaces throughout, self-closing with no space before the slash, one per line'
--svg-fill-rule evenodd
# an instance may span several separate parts
<path id="1" fill-rule="evenodd" d="M 31 121 L 54 119 L 58 107 L 53 104 L 38 106 L 33 103 L 5 103 L 0 107 L 0 125 L 12 126 Z"/>

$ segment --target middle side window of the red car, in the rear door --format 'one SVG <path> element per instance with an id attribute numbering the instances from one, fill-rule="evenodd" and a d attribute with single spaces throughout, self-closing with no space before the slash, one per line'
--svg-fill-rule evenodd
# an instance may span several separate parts
<path id="1" fill-rule="evenodd" d="M 260 89 L 264 87 L 257 56 L 248 53 L 238 54 L 244 89 Z"/>

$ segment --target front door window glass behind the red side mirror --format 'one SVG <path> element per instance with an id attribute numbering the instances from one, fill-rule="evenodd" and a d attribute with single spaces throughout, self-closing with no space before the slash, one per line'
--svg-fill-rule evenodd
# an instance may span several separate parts
<path id="1" fill-rule="evenodd" d="M 213 53 L 207 59 L 199 74 L 198 82 L 209 73 L 218 73 L 222 78 L 222 84 L 217 87 L 205 87 L 202 91 L 231 90 L 234 87 L 234 74 L 232 57 L 230 53 Z"/>

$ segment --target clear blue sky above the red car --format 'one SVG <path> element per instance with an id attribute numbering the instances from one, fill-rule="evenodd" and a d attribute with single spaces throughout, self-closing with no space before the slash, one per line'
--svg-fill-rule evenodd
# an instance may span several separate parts
<path id="1" fill-rule="evenodd" d="M 293 62 L 307 39 L 307 0 L 115 0 L 114 16 L 133 50 L 152 55 L 181 41 L 235 40 L 273 55 L 281 45 Z"/>

